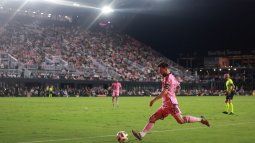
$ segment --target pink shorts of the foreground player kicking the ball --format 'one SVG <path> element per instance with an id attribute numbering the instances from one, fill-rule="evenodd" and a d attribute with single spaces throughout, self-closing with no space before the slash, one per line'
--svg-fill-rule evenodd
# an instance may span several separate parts
<path id="1" fill-rule="evenodd" d="M 163 120 L 169 114 L 172 116 L 181 114 L 181 110 L 178 104 L 173 105 L 172 107 L 160 107 L 151 117 L 154 117 L 156 120 L 161 119 Z"/>

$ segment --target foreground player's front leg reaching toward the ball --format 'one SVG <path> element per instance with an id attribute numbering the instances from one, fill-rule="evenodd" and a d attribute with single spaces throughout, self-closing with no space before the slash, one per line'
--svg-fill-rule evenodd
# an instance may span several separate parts
<path id="1" fill-rule="evenodd" d="M 141 132 L 136 132 L 132 130 L 133 135 L 138 139 L 142 140 L 142 138 L 154 127 L 155 122 L 158 119 L 163 119 L 167 114 L 164 113 L 162 108 L 159 108 L 150 118 L 148 123 L 145 125 L 144 129 Z"/>

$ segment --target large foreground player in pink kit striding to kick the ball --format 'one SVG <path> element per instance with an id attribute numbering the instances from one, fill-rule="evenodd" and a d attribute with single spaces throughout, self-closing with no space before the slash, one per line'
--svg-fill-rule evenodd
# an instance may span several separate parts
<path id="1" fill-rule="evenodd" d="M 150 101 L 150 107 L 160 98 L 162 98 L 162 106 L 149 118 L 149 122 L 141 132 L 132 130 L 133 135 L 138 140 L 142 140 L 142 138 L 153 128 L 157 120 L 163 120 L 168 115 L 172 115 L 179 124 L 200 122 L 210 127 L 209 122 L 203 116 L 201 116 L 201 118 L 182 116 L 175 96 L 176 91 L 180 88 L 180 83 L 169 71 L 167 63 L 162 62 L 158 67 L 160 74 L 163 76 L 162 92 Z"/>

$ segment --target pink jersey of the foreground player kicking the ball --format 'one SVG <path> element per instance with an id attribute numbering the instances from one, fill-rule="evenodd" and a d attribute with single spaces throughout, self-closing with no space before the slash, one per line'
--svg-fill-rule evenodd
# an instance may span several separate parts
<path id="1" fill-rule="evenodd" d="M 163 89 L 168 90 L 167 96 L 162 97 L 163 107 L 172 107 L 174 104 L 178 104 L 175 92 L 177 87 L 180 86 L 180 82 L 174 77 L 173 74 L 168 74 L 162 80 L 162 91 Z"/>

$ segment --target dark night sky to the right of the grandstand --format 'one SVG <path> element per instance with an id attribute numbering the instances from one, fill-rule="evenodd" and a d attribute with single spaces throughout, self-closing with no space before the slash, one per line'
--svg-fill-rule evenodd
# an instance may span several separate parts
<path id="1" fill-rule="evenodd" d="M 255 49 L 253 0 L 172 0 L 159 7 L 136 14 L 124 32 L 171 59 L 193 51 Z"/>

